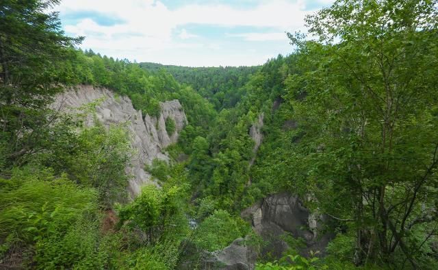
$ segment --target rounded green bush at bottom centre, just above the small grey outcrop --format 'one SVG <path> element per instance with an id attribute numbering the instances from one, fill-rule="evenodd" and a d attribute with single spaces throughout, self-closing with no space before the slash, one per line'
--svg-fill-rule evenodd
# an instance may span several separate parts
<path id="1" fill-rule="evenodd" d="M 249 225 L 239 217 L 232 217 L 226 210 L 215 210 L 196 228 L 194 243 L 201 249 L 215 251 L 249 231 Z"/>

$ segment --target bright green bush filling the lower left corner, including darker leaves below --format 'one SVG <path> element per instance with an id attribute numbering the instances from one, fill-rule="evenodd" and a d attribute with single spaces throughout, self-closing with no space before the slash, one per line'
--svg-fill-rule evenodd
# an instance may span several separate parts
<path id="1" fill-rule="evenodd" d="M 37 268 L 53 268 L 65 265 L 71 258 L 83 258 L 73 249 L 87 245 L 88 231 L 76 230 L 72 235 L 72 229 L 78 220 L 96 218 L 98 193 L 93 188 L 77 186 L 65 175 L 55 177 L 52 171 L 15 169 L 12 178 L 0 181 L 0 258 L 5 261 L 17 251 L 24 254 L 25 263 L 31 261 L 32 252 L 28 251 L 34 244 Z M 72 247 L 73 254 L 54 245 L 59 242 Z M 54 265 L 49 264 L 52 261 Z"/>

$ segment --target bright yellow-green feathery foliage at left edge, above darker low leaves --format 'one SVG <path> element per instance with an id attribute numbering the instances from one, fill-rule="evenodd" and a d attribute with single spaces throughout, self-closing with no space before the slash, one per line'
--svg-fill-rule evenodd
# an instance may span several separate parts
<path id="1" fill-rule="evenodd" d="M 65 175 L 54 177 L 50 171 L 15 171 L 0 191 L 0 240 L 10 248 L 65 234 L 97 207 L 96 191 L 79 188 Z"/>

